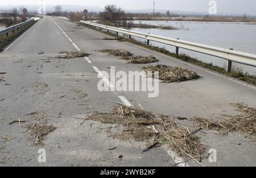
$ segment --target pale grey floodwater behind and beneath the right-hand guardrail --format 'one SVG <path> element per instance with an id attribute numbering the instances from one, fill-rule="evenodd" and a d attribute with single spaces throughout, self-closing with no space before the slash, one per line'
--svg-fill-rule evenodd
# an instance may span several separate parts
<path id="1" fill-rule="evenodd" d="M 174 39 L 186 40 L 201 44 L 212 45 L 222 48 L 233 48 L 236 51 L 256 54 L 256 23 L 242 22 L 184 22 L 184 21 L 147 21 L 134 20 L 134 23 L 152 24 L 157 26 L 172 26 L 179 30 L 162 30 L 158 28 L 133 28 L 134 31 L 150 33 L 154 35 L 166 36 Z M 170 45 L 151 42 L 151 45 L 164 47 L 171 52 L 175 52 L 175 47 Z M 226 60 L 218 57 L 180 49 L 180 53 L 185 53 L 191 57 L 213 63 L 219 67 L 226 66 Z M 256 68 L 242 64 L 234 64 L 243 72 L 256 75 Z"/>

